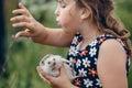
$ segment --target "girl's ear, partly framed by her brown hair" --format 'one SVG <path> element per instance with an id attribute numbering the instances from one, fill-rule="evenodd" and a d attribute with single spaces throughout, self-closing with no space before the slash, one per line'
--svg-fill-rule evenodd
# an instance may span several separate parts
<path id="1" fill-rule="evenodd" d="M 84 21 L 89 18 L 91 13 L 90 8 L 82 8 L 80 19 Z"/>

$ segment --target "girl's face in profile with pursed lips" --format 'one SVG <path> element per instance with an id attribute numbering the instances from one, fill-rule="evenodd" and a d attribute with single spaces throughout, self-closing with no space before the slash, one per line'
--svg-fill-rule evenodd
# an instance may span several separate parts
<path id="1" fill-rule="evenodd" d="M 79 22 L 80 9 L 77 8 L 74 0 L 58 0 L 58 6 L 55 10 L 57 24 L 66 32 L 77 32 Z"/>

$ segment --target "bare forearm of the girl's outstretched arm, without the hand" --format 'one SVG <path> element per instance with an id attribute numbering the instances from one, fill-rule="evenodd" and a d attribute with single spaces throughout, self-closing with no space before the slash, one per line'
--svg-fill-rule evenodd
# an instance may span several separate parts
<path id="1" fill-rule="evenodd" d="M 75 34 L 67 34 L 62 29 L 45 28 L 38 36 L 32 37 L 33 42 L 53 45 L 69 46 Z"/>

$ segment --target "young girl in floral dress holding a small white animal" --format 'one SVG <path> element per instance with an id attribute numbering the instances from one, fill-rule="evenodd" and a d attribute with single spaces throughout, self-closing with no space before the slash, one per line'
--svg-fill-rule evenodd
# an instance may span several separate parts
<path id="1" fill-rule="evenodd" d="M 25 28 L 15 37 L 28 36 L 33 42 L 70 46 L 67 59 L 74 64 L 74 74 L 80 76 L 70 82 L 61 68 L 59 77 L 37 72 L 54 88 L 128 88 L 130 68 L 130 33 L 112 15 L 112 0 L 57 0 L 56 22 L 62 29 L 48 29 L 36 22 L 26 8 L 13 10 L 13 28 Z"/>

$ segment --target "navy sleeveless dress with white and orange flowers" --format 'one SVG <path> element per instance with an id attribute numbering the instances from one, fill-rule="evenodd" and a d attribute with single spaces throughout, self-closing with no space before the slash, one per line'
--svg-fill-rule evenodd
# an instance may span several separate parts
<path id="1" fill-rule="evenodd" d="M 79 51 L 79 47 L 82 43 L 82 36 L 80 33 L 77 33 L 70 44 L 70 48 L 67 55 L 73 64 L 69 64 L 70 67 L 74 67 L 74 75 L 80 76 L 74 79 L 73 84 L 78 88 L 102 88 L 100 79 L 97 72 L 97 61 L 100 45 L 109 38 L 114 38 L 119 41 L 124 50 L 128 50 L 121 40 L 117 38 L 111 34 L 102 34 L 95 38 L 90 44 L 86 46 L 85 50 Z M 128 56 L 125 64 L 127 75 L 130 69 L 130 58 Z"/>

